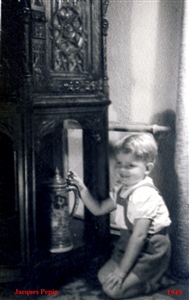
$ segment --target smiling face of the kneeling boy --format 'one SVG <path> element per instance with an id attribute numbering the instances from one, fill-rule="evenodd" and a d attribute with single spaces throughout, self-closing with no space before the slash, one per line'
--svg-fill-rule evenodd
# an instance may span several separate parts
<path id="1" fill-rule="evenodd" d="M 133 153 L 119 152 L 115 158 L 118 182 L 125 186 L 132 186 L 144 179 L 150 173 L 146 162 L 137 159 Z"/>

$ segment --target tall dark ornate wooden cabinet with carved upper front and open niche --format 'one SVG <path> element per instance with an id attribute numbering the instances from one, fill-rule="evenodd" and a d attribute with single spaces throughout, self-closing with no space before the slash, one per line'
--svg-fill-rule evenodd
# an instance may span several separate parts
<path id="1" fill-rule="evenodd" d="M 82 251 L 49 254 L 40 235 L 43 183 L 56 168 L 62 176 L 67 172 L 70 126 L 82 129 L 86 185 L 100 200 L 108 195 L 107 6 L 106 0 L 2 1 L 1 160 L 5 153 L 10 159 L 0 171 L 0 183 L 10 195 L 0 193 L 0 203 L 12 211 L 7 217 L 2 208 L 0 214 L 7 227 L 9 217 L 15 218 L 14 237 L 9 228 L 6 234 L 18 253 L 16 261 L 1 262 L 3 267 L 32 266 L 43 259 L 52 268 L 69 259 L 76 266 L 83 256 L 102 252 L 108 239 L 108 217 L 88 211 Z"/>

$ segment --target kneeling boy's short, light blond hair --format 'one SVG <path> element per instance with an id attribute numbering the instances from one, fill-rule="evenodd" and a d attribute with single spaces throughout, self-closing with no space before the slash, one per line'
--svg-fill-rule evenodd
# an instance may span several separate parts
<path id="1" fill-rule="evenodd" d="M 115 153 L 118 152 L 133 153 L 137 159 L 155 163 L 158 147 L 152 134 L 141 132 L 121 139 L 115 145 Z"/>

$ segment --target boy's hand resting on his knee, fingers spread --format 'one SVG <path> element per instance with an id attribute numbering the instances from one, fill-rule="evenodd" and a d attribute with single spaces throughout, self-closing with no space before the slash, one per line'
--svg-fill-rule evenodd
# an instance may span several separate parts
<path id="1" fill-rule="evenodd" d="M 117 267 L 106 277 L 103 285 L 108 287 L 109 289 L 113 289 L 115 286 L 121 286 L 125 277 L 126 274 L 119 267 Z"/>

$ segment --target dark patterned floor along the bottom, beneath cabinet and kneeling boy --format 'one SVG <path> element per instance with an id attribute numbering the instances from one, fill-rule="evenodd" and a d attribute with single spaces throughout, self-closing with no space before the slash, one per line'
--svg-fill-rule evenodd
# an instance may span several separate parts
<path id="1" fill-rule="evenodd" d="M 89 274 L 88 274 L 89 275 Z M 32 290 L 20 285 L 0 285 L 0 300 L 110 300 L 97 283 L 87 276 L 72 278 L 58 289 Z M 189 282 L 178 283 L 149 296 L 132 298 L 133 300 L 189 299 Z M 17 293 L 15 294 L 17 290 Z M 20 294 L 23 293 L 23 294 Z M 35 294 L 34 294 L 35 293 Z"/>

